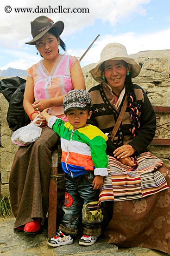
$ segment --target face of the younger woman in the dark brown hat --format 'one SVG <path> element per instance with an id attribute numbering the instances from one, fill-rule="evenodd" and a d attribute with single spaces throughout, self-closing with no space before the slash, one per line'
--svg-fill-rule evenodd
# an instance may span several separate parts
<path id="1" fill-rule="evenodd" d="M 59 41 L 54 35 L 46 33 L 36 41 L 36 47 L 44 59 L 50 60 L 58 54 L 58 43 Z"/>

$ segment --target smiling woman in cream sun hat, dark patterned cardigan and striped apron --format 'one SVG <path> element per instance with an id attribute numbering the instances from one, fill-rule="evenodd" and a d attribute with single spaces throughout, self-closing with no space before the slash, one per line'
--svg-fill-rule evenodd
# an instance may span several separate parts
<path id="1" fill-rule="evenodd" d="M 99 202 L 106 202 L 111 218 L 105 231 L 108 243 L 170 252 L 170 174 L 146 150 L 156 118 L 144 90 L 132 84 L 140 69 L 126 47 L 111 43 L 89 71 L 100 82 L 89 91 L 93 118 L 109 137 L 108 176 Z"/>

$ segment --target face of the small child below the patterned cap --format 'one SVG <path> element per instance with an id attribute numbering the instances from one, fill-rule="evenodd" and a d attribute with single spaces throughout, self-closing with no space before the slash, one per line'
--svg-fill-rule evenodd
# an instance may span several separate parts
<path id="1" fill-rule="evenodd" d="M 90 118 L 92 111 L 88 113 L 87 110 L 70 109 L 66 112 L 66 117 L 74 129 L 87 126 L 87 119 Z"/>

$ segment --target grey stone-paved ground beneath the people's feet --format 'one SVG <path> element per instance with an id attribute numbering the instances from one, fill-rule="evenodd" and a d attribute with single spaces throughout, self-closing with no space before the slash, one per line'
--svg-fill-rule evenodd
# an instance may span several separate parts
<path id="1" fill-rule="evenodd" d="M 54 248 L 47 245 L 45 228 L 37 235 L 27 235 L 14 231 L 14 222 L 15 218 L 4 222 L 0 219 L 0 256 L 170 256 L 147 248 L 118 248 L 107 244 L 104 238 L 99 238 L 91 246 L 80 246 L 79 236 L 72 244 Z"/>

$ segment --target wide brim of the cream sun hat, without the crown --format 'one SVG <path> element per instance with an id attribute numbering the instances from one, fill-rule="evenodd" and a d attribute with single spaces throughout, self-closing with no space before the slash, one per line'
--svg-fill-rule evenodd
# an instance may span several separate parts
<path id="1" fill-rule="evenodd" d="M 100 69 L 101 64 L 104 63 L 105 61 L 112 61 L 112 60 L 119 60 L 119 61 L 126 61 L 126 63 L 131 64 L 131 77 L 134 78 L 139 75 L 141 66 L 132 58 L 129 58 L 125 56 L 124 54 L 120 54 L 122 56 L 119 57 L 105 57 L 98 61 L 97 63 L 94 64 L 94 67 L 89 71 L 90 74 L 92 74 L 93 78 L 97 82 L 103 82 L 105 79 L 102 78 L 103 74 Z"/>

